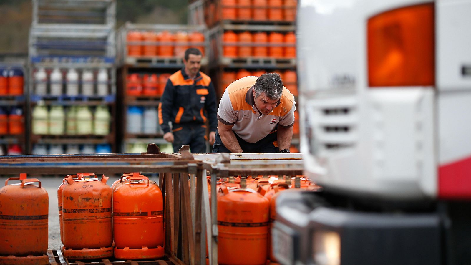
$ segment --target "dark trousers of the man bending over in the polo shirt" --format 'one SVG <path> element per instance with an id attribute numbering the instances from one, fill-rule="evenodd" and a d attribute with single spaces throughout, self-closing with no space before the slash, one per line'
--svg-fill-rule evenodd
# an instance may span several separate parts
<path id="1" fill-rule="evenodd" d="M 239 142 L 240 147 L 246 153 L 279 153 L 280 152 L 278 147 L 276 147 L 274 144 L 274 142 L 276 142 L 276 145 L 278 145 L 276 132 L 272 132 L 268 134 L 267 136 L 263 137 L 260 141 L 254 142 L 254 143 L 244 141 L 242 138 L 240 138 L 237 135 L 237 133 L 234 132 L 234 134 L 235 134 L 235 138 L 237 138 L 237 141 Z M 213 153 L 232 153 L 222 143 L 218 130 L 216 130 L 216 140 L 214 141 L 212 152 Z"/>

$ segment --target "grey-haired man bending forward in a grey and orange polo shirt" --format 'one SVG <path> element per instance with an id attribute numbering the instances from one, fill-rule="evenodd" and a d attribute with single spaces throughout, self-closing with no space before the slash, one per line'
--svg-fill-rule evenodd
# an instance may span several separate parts
<path id="1" fill-rule="evenodd" d="M 294 97 L 280 75 L 247 76 L 231 83 L 219 102 L 214 153 L 289 153 Z"/>

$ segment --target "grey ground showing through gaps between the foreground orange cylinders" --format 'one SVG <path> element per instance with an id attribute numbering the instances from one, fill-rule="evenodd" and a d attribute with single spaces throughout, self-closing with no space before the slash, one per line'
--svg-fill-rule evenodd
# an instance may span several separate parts
<path id="1" fill-rule="evenodd" d="M 146 174 L 145 174 L 146 175 Z M 64 177 L 54 177 L 54 176 L 34 176 L 28 175 L 31 178 L 37 178 L 41 181 L 41 186 L 46 189 L 49 195 L 49 240 L 48 240 L 48 249 L 59 249 L 62 247 L 62 242 L 60 240 L 60 228 L 59 228 L 59 213 L 57 209 L 57 188 L 62 183 Z M 101 177 L 99 177 L 101 178 Z M 0 176 L 0 183 L 5 183 L 8 177 Z M 109 186 L 119 177 L 111 176 L 110 179 L 106 182 Z M 150 177 L 153 181 L 158 181 L 158 177 Z M 12 182 L 17 183 L 17 182 Z M 4 184 L 0 184 L 0 187 L 3 187 Z"/>

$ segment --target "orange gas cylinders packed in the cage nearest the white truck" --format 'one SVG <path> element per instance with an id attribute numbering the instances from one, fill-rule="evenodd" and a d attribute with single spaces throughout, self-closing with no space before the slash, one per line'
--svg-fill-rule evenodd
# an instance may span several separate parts
<path id="1" fill-rule="evenodd" d="M 208 178 L 208 188 L 211 190 Z M 276 218 L 276 198 L 282 192 L 317 190 L 305 176 L 229 177 L 218 189 L 219 264 L 276 262 L 271 251 L 271 225 Z M 211 192 L 211 191 L 210 191 Z M 244 255 L 236 251 L 243 246 Z"/>

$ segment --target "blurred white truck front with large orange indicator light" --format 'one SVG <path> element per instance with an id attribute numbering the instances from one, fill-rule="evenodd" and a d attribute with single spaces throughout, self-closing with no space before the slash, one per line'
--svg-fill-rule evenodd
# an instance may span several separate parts
<path id="1" fill-rule="evenodd" d="M 471 0 L 300 0 L 282 264 L 471 264 Z"/>

